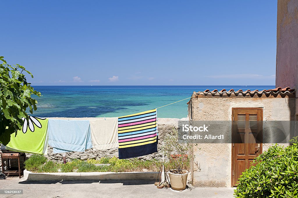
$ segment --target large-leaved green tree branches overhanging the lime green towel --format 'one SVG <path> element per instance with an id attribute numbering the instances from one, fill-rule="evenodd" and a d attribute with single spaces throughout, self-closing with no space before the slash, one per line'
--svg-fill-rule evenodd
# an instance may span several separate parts
<path id="1" fill-rule="evenodd" d="M 37 101 L 31 95 L 41 96 L 41 93 L 27 82 L 25 72 L 33 75 L 25 67 L 7 64 L 0 56 L 0 143 L 6 145 L 10 141 L 10 134 L 21 130 L 24 120 L 28 119 L 27 108 L 32 114 L 37 109 Z M 16 134 L 17 135 L 17 134 Z"/>

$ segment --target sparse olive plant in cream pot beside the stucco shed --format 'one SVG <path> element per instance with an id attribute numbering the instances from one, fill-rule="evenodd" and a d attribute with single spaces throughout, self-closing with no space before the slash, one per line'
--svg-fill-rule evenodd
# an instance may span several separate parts
<path id="1" fill-rule="evenodd" d="M 181 191 L 186 188 L 187 176 L 190 171 L 190 160 L 193 157 L 188 156 L 192 148 L 190 143 L 179 144 L 178 130 L 173 128 L 171 132 L 164 137 L 162 151 L 170 159 L 173 169 L 169 171 L 171 188 Z"/>

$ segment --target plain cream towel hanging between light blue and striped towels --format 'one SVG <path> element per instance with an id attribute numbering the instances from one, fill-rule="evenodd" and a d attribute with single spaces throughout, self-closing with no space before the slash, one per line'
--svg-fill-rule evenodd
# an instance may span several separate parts
<path id="1" fill-rule="evenodd" d="M 91 138 L 94 150 L 112 149 L 118 143 L 118 118 L 90 120 Z"/>

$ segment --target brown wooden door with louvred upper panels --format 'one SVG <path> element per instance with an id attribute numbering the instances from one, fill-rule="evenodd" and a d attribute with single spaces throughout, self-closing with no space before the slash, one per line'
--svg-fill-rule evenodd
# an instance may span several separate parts
<path id="1" fill-rule="evenodd" d="M 263 150 L 263 108 L 232 108 L 232 186 Z"/>

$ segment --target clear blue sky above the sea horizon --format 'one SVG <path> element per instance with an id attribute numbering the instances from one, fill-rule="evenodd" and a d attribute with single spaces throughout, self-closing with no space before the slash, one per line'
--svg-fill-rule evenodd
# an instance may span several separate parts
<path id="1" fill-rule="evenodd" d="M 277 0 L 1 1 L 32 85 L 274 85 Z"/>

